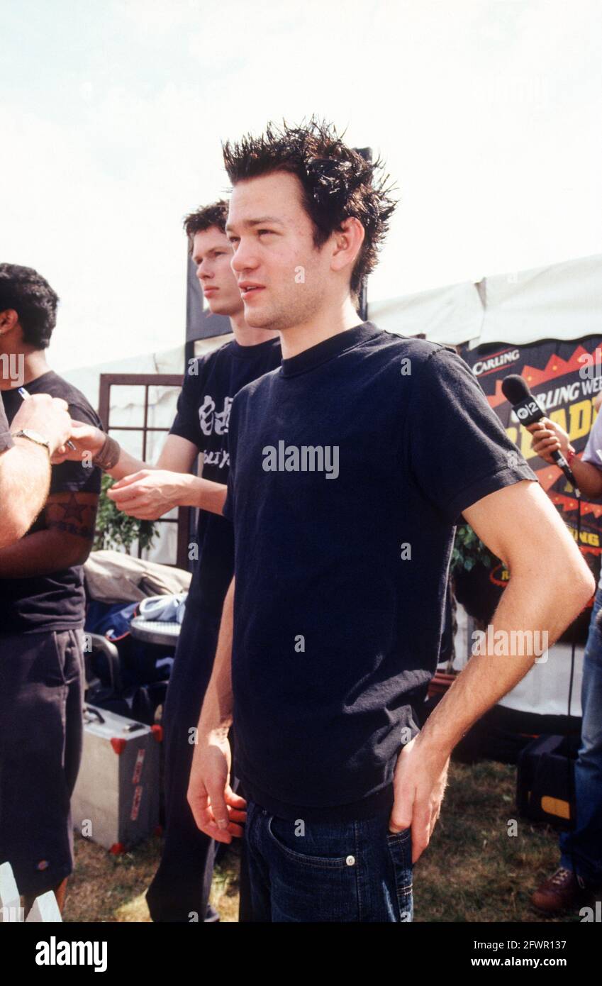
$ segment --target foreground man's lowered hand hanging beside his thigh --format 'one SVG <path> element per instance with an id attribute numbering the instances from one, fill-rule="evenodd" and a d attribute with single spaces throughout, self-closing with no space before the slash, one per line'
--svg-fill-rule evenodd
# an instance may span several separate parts
<path id="1" fill-rule="evenodd" d="M 246 802 L 230 786 L 232 752 L 227 732 L 198 737 L 194 747 L 186 796 L 197 826 L 217 842 L 242 835 Z"/>

